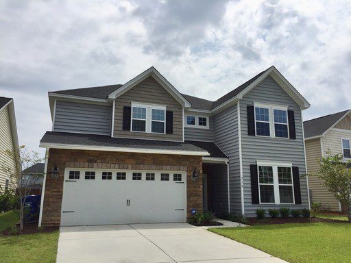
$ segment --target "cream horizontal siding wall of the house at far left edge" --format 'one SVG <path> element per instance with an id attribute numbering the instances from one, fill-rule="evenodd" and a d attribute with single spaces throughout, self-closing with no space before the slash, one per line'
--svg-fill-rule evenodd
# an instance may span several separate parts
<path id="1" fill-rule="evenodd" d="M 5 150 L 14 151 L 8 106 L 0 110 L 0 165 L 2 166 L 5 164 L 6 166 L 15 169 L 16 162 L 3 153 Z M 0 186 L 2 188 L 5 186 L 5 181 L 8 178 L 9 175 L 0 169 Z"/>

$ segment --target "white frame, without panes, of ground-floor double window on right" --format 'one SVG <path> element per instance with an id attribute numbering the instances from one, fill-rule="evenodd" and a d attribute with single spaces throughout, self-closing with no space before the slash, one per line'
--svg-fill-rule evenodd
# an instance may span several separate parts
<path id="1" fill-rule="evenodd" d="M 260 183 L 260 168 L 259 166 L 271 166 L 273 171 L 273 186 L 274 186 L 274 203 L 261 203 L 261 185 L 272 184 L 261 184 Z M 279 184 L 278 179 L 278 167 L 288 167 L 291 171 L 291 184 Z M 258 199 L 261 205 L 295 205 L 295 192 L 293 189 L 293 164 L 288 162 L 267 162 L 267 161 L 257 161 L 257 179 L 258 179 Z M 291 186 L 293 191 L 293 203 L 280 203 L 280 193 L 279 186 Z"/>

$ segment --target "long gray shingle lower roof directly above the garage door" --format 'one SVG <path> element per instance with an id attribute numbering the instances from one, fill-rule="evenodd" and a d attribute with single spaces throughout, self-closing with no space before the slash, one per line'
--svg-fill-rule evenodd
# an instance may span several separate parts
<path id="1" fill-rule="evenodd" d="M 41 143 L 59 143 L 63 145 L 88 145 L 99 147 L 123 147 L 135 149 L 160 149 L 173 151 L 199 151 L 206 150 L 187 142 L 168 142 L 164 140 L 141 140 L 130 138 L 111 138 L 106 135 L 71 134 L 68 132 L 46 132 Z"/>

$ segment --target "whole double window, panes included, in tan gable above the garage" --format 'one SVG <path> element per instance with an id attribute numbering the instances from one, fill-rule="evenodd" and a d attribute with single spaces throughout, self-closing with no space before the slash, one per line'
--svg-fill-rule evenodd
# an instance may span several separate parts
<path id="1" fill-rule="evenodd" d="M 132 132 L 165 134 L 166 106 L 132 103 Z"/>

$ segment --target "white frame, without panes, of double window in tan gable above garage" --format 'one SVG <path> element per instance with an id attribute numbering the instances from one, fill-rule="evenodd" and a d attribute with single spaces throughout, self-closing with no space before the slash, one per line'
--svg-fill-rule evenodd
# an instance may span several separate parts
<path id="1" fill-rule="evenodd" d="M 133 108 L 145 108 L 146 109 L 146 119 L 133 118 Z M 166 134 L 166 106 L 165 105 L 154 105 L 148 103 L 135 103 L 132 102 L 132 112 L 130 116 L 130 132 L 142 132 L 146 134 Z M 152 110 L 163 110 L 165 112 L 165 121 L 156 121 L 159 123 L 164 123 L 163 132 L 152 132 Z M 133 131 L 133 120 L 145 121 L 145 132 L 143 131 Z"/>

